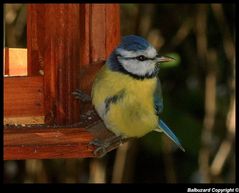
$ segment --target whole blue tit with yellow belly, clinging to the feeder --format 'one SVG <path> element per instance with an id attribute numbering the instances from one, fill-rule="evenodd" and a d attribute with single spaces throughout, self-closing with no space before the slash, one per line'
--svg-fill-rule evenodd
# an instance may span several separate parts
<path id="1" fill-rule="evenodd" d="M 163 132 L 185 151 L 160 117 L 163 97 L 159 65 L 171 60 L 160 56 L 140 36 L 122 38 L 96 75 L 91 93 L 92 104 L 107 129 L 121 139 L 142 137 L 151 131 Z"/>

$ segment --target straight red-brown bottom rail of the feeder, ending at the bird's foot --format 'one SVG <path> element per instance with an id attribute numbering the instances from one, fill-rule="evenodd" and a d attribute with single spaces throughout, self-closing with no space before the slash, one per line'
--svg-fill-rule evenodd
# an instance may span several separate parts
<path id="1" fill-rule="evenodd" d="M 4 129 L 4 160 L 93 157 L 82 128 Z"/>

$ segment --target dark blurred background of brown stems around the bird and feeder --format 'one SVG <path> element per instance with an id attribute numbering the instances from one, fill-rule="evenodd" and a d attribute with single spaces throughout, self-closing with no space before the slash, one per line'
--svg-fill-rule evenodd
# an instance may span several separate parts
<path id="1" fill-rule="evenodd" d="M 5 4 L 5 47 L 26 47 L 26 5 Z M 121 4 L 121 34 L 148 39 L 161 65 L 163 119 L 101 159 L 4 161 L 5 183 L 234 183 L 235 4 Z"/>

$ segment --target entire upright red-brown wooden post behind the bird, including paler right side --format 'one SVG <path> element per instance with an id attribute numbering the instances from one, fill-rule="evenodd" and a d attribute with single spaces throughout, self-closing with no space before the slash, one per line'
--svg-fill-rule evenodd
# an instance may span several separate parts
<path id="1" fill-rule="evenodd" d="M 90 106 L 80 105 L 71 93 L 81 88 L 89 94 L 95 73 L 116 47 L 119 6 L 32 4 L 28 10 L 28 59 L 30 66 L 44 67 L 45 122 L 78 122 L 80 109 Z"/>

